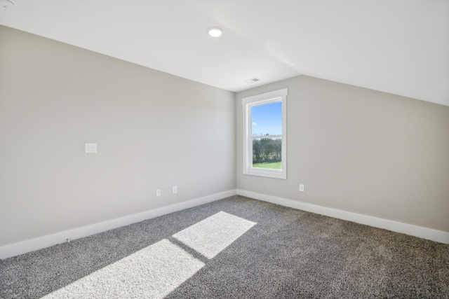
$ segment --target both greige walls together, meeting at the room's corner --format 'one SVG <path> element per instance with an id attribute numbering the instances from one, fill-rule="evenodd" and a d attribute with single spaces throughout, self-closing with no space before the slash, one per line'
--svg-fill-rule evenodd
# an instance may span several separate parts
<path id="1" fill-rule="evenodd" d="M 241 99 L 280 88 L 288 179 L 243 175 Z M 307 76 L 234 95 L 0 27 L 0 247 L 235 188 L 449 232 L 448 182 L 448 106 Z"/>

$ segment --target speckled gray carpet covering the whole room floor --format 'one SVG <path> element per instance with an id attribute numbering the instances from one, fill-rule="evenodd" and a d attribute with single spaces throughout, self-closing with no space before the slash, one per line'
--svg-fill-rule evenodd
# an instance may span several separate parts
<path id="1" fill-rule="evenodd" d="M 219 216 L 228 224 L 199 227 Z M 99 286 L 125 262 L 128 272 Z M 157 263 L 173 273 L 155 274 Z M 154 297 L 449 298 L 449 245 L 234 196 L 0 260 L 0 298 L 62 298 L 60 288 L 77 298 L 74 288 L 91 286 L 104 288 L 91 298 L 149 298 L 112 288 L 142 272 L 165 286 L 183 277 Z"/>

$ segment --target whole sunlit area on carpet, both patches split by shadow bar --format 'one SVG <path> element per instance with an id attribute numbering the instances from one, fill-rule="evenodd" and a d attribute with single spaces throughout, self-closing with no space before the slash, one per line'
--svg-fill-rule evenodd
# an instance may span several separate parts
<path id="1" fill-rule="evenodd" d="M 220 211 L 173 237 L 206 258 L 213 258 L 255 224 Z M 163 239 L 42 298 L 163 298 L 204 265 L 180 246 Z"/>

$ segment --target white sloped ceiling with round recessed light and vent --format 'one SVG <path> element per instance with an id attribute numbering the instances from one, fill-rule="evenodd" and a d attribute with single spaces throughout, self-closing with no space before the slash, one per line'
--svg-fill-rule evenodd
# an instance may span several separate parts
<path id="1" fill-rule="evenodd" d="M 1 25 L 225 90 L 304 74 L 449 106 L 448 0 L 15 2 Z"/>

